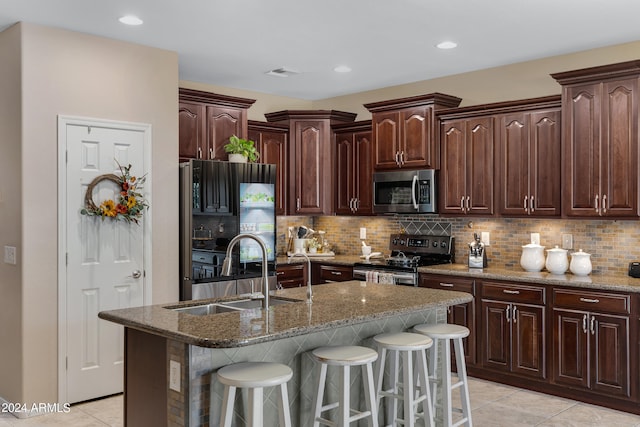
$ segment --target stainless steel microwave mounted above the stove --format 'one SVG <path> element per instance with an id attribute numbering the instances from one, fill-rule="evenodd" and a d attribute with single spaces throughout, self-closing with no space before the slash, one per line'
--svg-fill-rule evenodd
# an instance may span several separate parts
<path id="1" fill-rule="evenodd" d="M 436 171 L 376 172 L 373 174 L 375 213 L 436 213 Z"/>

